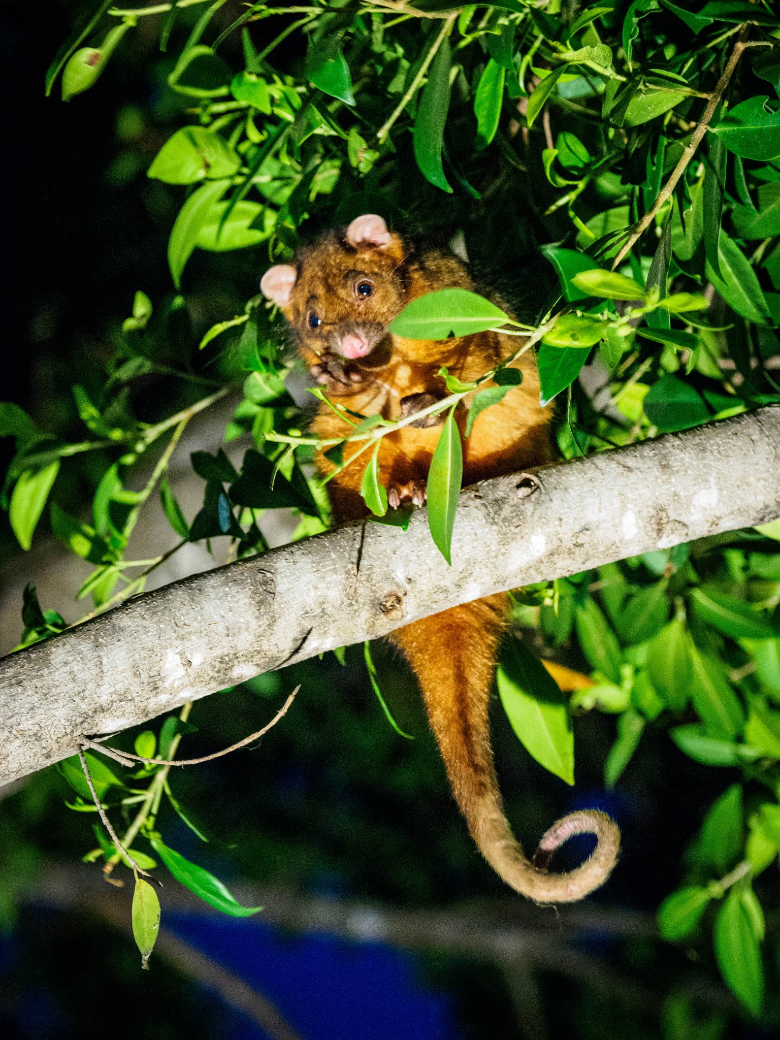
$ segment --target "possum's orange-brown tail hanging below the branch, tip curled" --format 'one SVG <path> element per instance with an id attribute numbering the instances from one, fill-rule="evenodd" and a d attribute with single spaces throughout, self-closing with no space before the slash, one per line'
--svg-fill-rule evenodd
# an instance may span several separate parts
<path id="1" fill-rule="evenodd" d="M 490 745 L 488 704 L 506 597 L 490 596 L 399 628 L 390 635 L 419 681 L 456 801 L 479 851 L 496 874 L 536 903 L 573 903 L 606 881 L 620 851 L 620 831 L 593 809 L 558 820 L 534 862 L 510 829 Z M 568 874 L 546 870 L 555 850 L 575 834 L 595 834 L 592 855 Z"/>

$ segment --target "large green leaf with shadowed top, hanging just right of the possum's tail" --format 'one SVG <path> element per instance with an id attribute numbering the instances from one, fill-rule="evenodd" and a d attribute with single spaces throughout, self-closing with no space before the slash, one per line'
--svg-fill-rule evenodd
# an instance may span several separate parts
<path id="1" fill-rule="evenodd" d="M 516 639 L 497 672 L 498 694 L 525 750 L 550 773 L 574 783 L 574 731 L 566 698 L 544 666 Z"/>

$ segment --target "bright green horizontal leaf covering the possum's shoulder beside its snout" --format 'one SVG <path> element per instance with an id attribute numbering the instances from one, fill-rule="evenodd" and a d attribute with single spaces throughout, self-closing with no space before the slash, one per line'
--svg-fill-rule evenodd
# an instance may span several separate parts
<path id="1" fill-rule="evenodd" d="M 509 320 L 503 311 L 476 292 L 439 289 L 407 304 L 390 322 L 390 332 L 405 339 L 446 339 L 500 328 Z"/>

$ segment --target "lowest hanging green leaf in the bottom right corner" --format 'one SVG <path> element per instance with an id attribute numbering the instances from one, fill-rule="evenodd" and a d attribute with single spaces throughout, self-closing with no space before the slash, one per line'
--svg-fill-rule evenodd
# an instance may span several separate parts
<path id="1" fill-rule="evenodd" d="M 763 964 L 753 922 L 738 888 L 732 888 L 714 925 L 714 952 L 721 974 L 734 996 L 753 1015 L 763 1004 Z"/>

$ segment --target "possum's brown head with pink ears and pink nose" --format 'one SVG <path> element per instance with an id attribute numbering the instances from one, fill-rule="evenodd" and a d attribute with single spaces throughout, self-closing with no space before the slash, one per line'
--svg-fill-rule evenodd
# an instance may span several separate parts
<path id="1" fill-rule="evenodd" d="M 402 240 L 367 213 L 302 250 L 294 265 L 271 267 L 260 289 L 289 321 L 305 357 L 355 360 L 387 346 L 388 326 L 408 303 L 407 279 Z"/>

